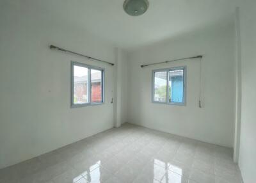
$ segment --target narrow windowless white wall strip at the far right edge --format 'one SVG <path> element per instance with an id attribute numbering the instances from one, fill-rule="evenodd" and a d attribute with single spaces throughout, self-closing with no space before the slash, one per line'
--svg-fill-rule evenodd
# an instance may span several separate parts
<path id="1" fill-rule="evenodd" d="M 239 167 L 244 183 L 256 180 L 256 2 L 243 1 L 240 7 L 241 28 L 241 139 Z"/>

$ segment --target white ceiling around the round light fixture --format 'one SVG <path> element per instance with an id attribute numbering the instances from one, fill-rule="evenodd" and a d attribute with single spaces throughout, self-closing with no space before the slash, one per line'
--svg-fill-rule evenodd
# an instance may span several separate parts
<path id="1" fill-rule="evenodd" d="M 235 0 L 148 0 L 148 11 L 131 17 L 124 0 L 56 0 L 34 4 L 59 23 L 84 29 L 118 47 L 132 49 L 231 21 Z"/>

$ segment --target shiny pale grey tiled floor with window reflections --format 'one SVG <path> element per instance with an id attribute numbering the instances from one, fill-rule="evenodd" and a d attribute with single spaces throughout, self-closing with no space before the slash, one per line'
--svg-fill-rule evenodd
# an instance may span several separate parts
<path id="1" fill-rule="evenodd" d="M 230 148 L 125 123 L 0 170 L 9 183 L 237 183 Z"/>

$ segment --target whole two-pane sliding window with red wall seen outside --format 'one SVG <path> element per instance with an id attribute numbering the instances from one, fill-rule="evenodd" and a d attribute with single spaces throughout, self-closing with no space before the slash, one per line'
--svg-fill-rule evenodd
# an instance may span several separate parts
<path id="1" fill-rule="evenodd" d="M 72 62 L 71 106 L 102 104 L 104 69 Z"/>

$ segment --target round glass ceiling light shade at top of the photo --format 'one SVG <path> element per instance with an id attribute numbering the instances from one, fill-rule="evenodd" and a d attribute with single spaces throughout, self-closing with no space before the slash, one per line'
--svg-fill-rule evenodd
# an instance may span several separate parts
<path id="1" fill-rule="evenodd" d="M 147 0 L 125 0 L 124 10 L 128 15 L 139 16 L 145 13 L 148 9 Z"/>

